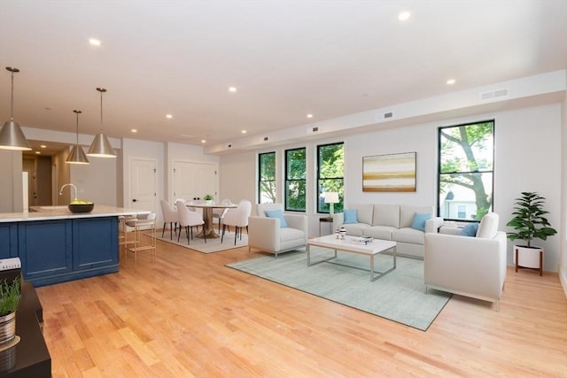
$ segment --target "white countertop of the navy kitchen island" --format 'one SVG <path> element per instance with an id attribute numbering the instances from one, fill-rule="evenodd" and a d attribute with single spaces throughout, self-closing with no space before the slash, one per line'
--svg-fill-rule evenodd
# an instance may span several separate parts
<path id="1" fill-rule="evenodd" d="M 66 220 L 76 218 L 113 217 L 119 215 L 149 214 L 149 210 L 126 209 L 123 207 L 95 204 L 92 212 L 73 213 L 66 205 L 32 206 L 35 212 L 0 212 L 0 223 L 31 220 Z"/>

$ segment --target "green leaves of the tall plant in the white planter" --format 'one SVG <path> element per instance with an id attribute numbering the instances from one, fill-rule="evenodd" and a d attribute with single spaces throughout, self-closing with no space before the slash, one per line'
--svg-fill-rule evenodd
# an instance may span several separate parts
<path id="1" fill-rule="evenodd" d="M 508 238 L 511 241 L 520 239 L 527 242 L 530 247 L 532 239 L 546 240 L 548 236 L 555 235 L 557 231 L 551 228 L 551 224 L 545 214 L 549 212 L 543 210 L 545 198 L 537 192 L 522 192 L 522 197 L 515 199 L 514 218 L 506 226 L 514 228 L 516 232 L 509 232 Z"/>

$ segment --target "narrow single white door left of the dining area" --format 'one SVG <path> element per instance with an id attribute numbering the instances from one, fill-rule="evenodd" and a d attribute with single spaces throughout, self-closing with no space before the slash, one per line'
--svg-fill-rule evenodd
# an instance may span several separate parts
<path id="1" fill-rule="evenodd" d="M 130 203 L 125 207 L 156 212 L 156 160 L 130 160 Z"/>

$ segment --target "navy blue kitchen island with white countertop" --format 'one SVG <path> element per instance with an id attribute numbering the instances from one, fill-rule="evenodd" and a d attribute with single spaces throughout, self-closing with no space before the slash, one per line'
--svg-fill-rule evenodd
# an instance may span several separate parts
<path id="1" fill-rule="evenodd" d="M 118 218 L 149 213 L 97 204 L 89 213 L 67 206 L 32 210 L 0 213 L 0 258 L 19 257 L 24 279 L 35 287 L 118 272 Z"/>

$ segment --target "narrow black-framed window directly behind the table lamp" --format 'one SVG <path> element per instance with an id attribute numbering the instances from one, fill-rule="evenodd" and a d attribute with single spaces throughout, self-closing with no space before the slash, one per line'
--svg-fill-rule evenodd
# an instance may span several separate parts
<path id="1" fill-rule="evenodd" d="M 317 146 L 317 212 L 329 212 L 329 204 L 325 204 L 322 194 L 337 192 L 338 204 L 335 212 L 343 211 L 345 193 L 345 158 L 344 144 L 322 144 Z"/>

